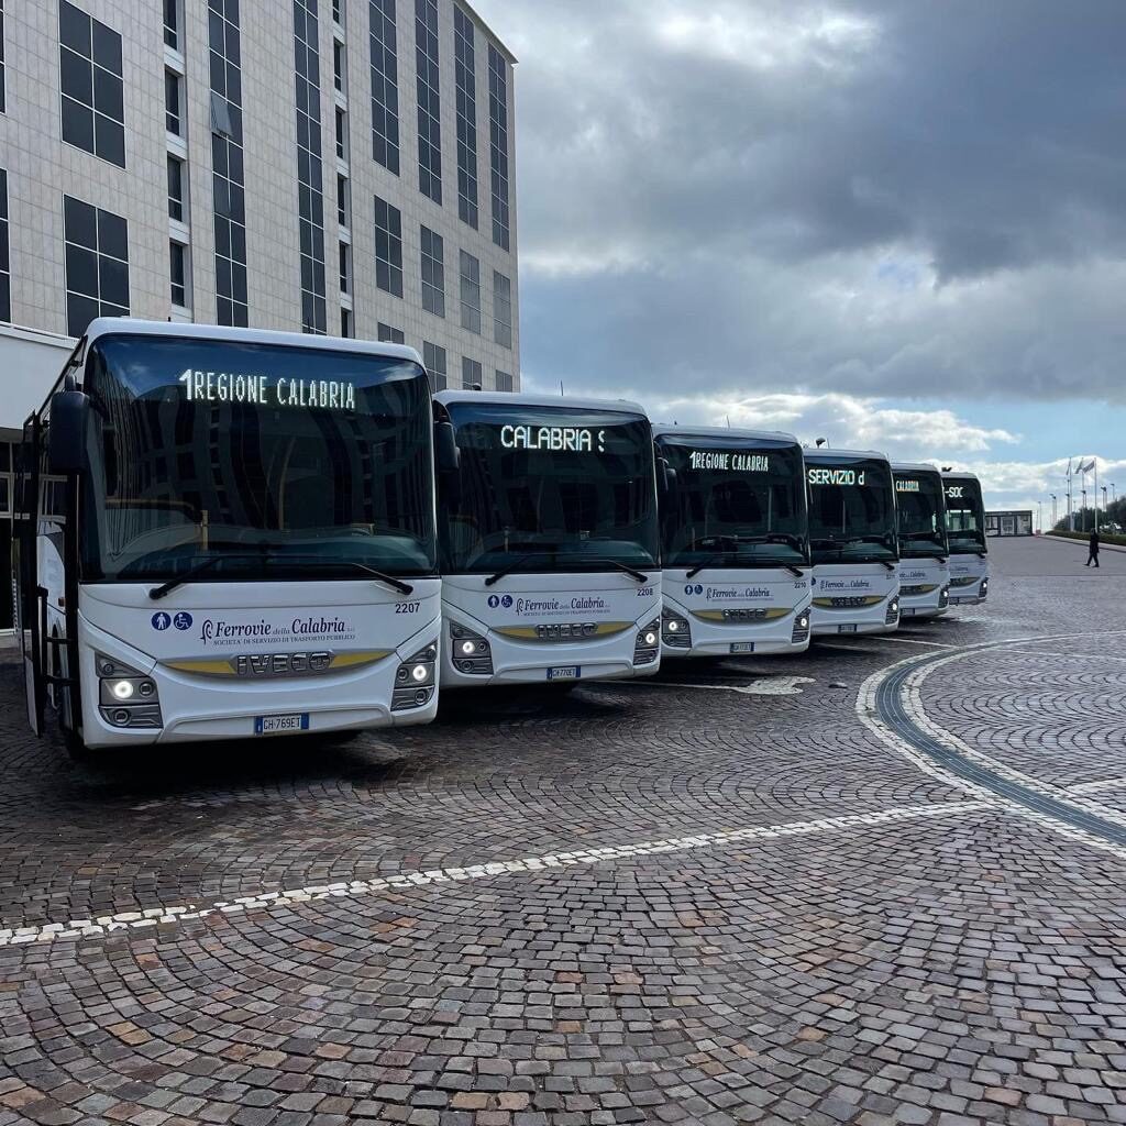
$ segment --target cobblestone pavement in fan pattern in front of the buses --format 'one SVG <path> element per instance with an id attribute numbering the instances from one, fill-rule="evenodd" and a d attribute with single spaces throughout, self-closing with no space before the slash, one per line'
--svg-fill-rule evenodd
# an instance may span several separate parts
<path id="1" fill-rule="evenodd" d="M 1126 1123 L 1126 555 L 1081 547 L 351 743 L 77 767 L 9 661 L 0 1126 Z"/>

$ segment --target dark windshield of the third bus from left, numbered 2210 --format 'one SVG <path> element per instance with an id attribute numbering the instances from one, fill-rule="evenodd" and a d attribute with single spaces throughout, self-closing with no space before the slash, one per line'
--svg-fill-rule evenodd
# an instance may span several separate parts
<path id="1" fill-rule="evenodd" d="M 799 446 L 757 438 L 661 435 L 676 471 L 661 504 L 665 566 L 808 564 Z"/>

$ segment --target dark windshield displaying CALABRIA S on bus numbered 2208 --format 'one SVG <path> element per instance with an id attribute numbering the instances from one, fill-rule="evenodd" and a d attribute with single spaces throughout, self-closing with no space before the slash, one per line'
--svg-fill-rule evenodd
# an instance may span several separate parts
<path id="1" fill-rule="evenodd" d="M 448 409 L 461 488 L 443 504 L 445 571 L 656 564 L 653 439 L 645 418 L 520 403 Z"/>

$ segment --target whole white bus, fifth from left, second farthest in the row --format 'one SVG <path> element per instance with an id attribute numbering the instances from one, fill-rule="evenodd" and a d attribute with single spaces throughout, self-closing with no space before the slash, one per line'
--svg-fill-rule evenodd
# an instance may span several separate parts
<path id="1" fill-rule="evenodd" d="M 900 529 L 900 614 L 933 618 L 950 604 L 950 548 L 946 540 L 942 475 L 933 465 L 896 463 Z"/>

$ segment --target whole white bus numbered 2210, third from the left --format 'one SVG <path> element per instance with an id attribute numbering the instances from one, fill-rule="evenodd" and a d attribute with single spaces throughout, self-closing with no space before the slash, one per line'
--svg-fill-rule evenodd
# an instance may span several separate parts
<path id="1" fill-rule="evenodd" d="M 797 439 L 669 426 L 654 427 L 653 439 L 659 474 L 669 480 L 660 502 L 663 654 L 808 649 L 808 513 Z"/>

